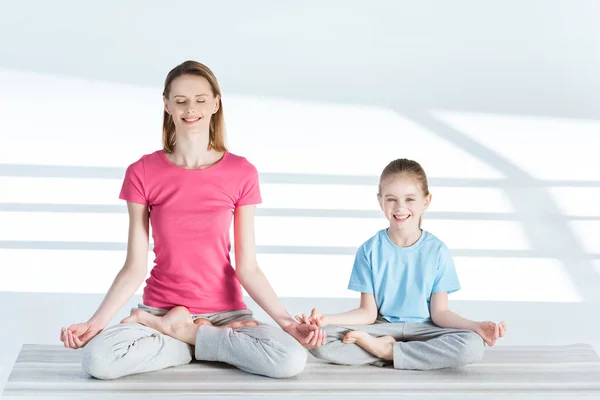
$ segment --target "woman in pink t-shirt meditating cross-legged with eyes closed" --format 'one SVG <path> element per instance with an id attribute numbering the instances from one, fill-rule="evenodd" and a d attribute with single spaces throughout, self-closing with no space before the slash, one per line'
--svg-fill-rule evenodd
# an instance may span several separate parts
<path id="1" fill-rule="evenodd" d="M 163 100 L 163 149 L 131 164 L 121 189 L 129 210 L 125 264 L 96 313 L 63 328 L 61 341 L 83 347 L 83 370 L 100 379 L 187 364 L 193 356 L 274 378 L 297 375 L 306 363 L 302 345 L 319 346 L 325 334 L 287 313 L 256 263 L 258 173 L 225 147 L 217 80 L 186 61 L 167 75 Z M 104 329 L 146 276 L 149 223 L 156 259 L 143 304 Z M 254 321 L 240 283 L 283 330 Z"/>

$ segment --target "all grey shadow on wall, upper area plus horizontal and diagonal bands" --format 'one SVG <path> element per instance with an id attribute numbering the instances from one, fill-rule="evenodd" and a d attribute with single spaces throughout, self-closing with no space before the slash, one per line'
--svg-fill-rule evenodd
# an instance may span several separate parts
<path id="1" fill-rule="evenodd" d="M 111 0 L 100 5 L 71 0 L 61 4 L 69 9 L 69 23 L 60 23 L 64 10 L 56 4 L 39 2 L 33 15 L 24 4 L 0 5 L 0 38 L 11 40 L 11 46 L 0 46 L 4 49 L 0 50 L 0 67 L 157 86 L 165 71 L 195 58 L 211 66 L 227 92 L 394 110 L 505 176 L 498 180 L 432 179 L 432 186 L 501 188 L 515 209 L 513 214 L 439 213 L 437 217 L 517 220 L 532 243 L 531 251 L 457 249 L 456 255 L 555 258 L 568 266 L 584 300 L 600 301 L 600 291 L 594 289 L 600 287 L 600 276 L 590 261 L 598 255 L 585 253 L 569 218 L 561 214 L 547 190 L 551 185 L 600 187 L 600 181 L 535 179 L 426 111 L 600 119 L 595 106 L 600 103 L 600 75 L 595 73 L 600 64 L 600 27 L 594 23 L 599 15 L 595 3 L 379 1 L 365 7 L 360 1 L 309 1 L 297 8 L 266 1 L 252 5 L 180 1 L 145 6 L 143 15 L 137 2 Z M 197 24 L 200 13 L 211 18 L 203 21 L 198 35 L 188 34 L 187 27 Z M 166 23 L 171 14 L 178 16 L 177 26 Z M 506 29 L 507 22 L 511 29 Z M 186 34 L 175 33 L 174 28 Z M 173 33 L 165 34 L 169 31 Z M 198 39 L 208 32 L 219 32 L 219 40 Z M 176 43 L 173 35 L 180 35 Z M 131 57 L 133 51 L 135 57 Z M 558 93 L 549 96 L 549 90 Z M 122 174 L 117 168 L 0 165 L 2 176 L 104 179 Z M 263 174 L 261 181 L 372 185 L 376 178 Z M 97 213 L 123 208 L 0 204 L 0 210 Z M 261 209 L 259 213 L 373 215 L 365 210 Z M 0 242 L 0 248 L 121 250 L 124 246 Z M 259 251 L 352 254 L 354 249 L 262 246 Z"/>

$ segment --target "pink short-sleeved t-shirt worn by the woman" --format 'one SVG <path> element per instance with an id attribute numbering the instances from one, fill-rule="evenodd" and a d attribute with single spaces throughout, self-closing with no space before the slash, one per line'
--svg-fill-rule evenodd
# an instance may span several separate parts
<path id="1" fill-rule="evenodd" d="M 226 152 L 209 168 L 185 169 L 159 150 L 127 168 L 119 198 L 150 210 L 156 258 L 145 305 L 185 306 L 192 314 L 246 308 L 229 232 L 236 207 L 261 202 L 248 160 Z"/>

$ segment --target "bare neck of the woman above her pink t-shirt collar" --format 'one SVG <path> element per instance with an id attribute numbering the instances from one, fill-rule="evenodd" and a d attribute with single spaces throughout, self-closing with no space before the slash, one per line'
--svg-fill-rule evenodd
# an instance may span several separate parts
<path id="1" fill-rule="evenodd" d="M 208 168 L 223 156 L 222 152 L 208 150 L 208 132 L 177 135 L 175 150 L 169 159 L 176 165 L 188 169 Z"/>

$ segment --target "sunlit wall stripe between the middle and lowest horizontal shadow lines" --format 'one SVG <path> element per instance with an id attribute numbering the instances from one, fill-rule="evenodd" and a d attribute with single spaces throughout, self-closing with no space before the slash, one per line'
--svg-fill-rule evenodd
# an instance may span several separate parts
<path id="1" fill-rule="evenodd" d="M 126 214 L 0 212 L 0 240 L 126 242 Z M 516 221 L 425 220 L 451 248 L 527 250 L 529 241 Z M 257 217 L 258 245 L 358 247 L 380 229 L 382 217 L 295 218 Z"/>

